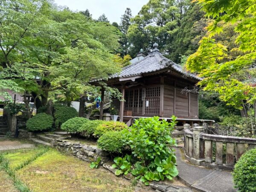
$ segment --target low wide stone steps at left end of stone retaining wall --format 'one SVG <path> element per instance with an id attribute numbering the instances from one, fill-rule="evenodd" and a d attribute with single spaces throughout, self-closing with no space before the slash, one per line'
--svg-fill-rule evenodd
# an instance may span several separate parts
<path id="1" fill-rule="evenodd" d="M 37 134 L 35 138 L 31 138 L 31 140 L 35 143 L 51 146 L 51 141 L 54 139 L 65 140 L 70 138 L 70 134 L 65 131 L 55 131 L 53 134 L 43 133 Z"/>

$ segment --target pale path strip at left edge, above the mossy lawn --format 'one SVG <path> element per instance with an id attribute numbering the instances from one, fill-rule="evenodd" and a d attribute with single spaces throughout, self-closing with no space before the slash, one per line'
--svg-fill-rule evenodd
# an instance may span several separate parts
<path id="1" fill-rule="evenodd" d="M 21 149 L 21 148 L 33 148 L 35 145 L 30 143 L 20 143 L 18 141 L 3 140 L 0 141 L 0 151 Z"/>

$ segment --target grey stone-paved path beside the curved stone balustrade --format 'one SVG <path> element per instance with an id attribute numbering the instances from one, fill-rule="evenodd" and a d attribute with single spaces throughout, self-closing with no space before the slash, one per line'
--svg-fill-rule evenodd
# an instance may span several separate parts
<path id="1" fill-rule="evenodd" d="M 176 148 L 178 177 L 188 186 L 202 192 L 236 192 L 229 171 L 194 166 L 183 160 L 183 151 Z"/>

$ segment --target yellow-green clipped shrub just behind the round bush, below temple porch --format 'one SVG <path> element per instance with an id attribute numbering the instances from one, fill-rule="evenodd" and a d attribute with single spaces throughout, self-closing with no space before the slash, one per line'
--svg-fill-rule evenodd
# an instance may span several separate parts
<path id="1" fill-rule="evenodd" d="M 96 127 L 94 135 L 100 137 L 107 131 L 122 131 L 125 128 L 127 128 L 127 125 L 124 122 L 105 121 Z"/>

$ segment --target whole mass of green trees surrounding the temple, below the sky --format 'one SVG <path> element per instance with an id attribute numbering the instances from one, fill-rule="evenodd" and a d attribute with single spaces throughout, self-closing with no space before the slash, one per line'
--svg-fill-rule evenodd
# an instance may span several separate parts
<path id="1" fill-rule="evenodd" d="M 100 87 L 110 90 L 89 82 L 118 73 L 157 42 L 164 56 L 207 77 L 199 82 L 200 119 L 250 116 L 253 125 L 255 11 L 245 2 L 244 16 L 230 1 L 148 0 L 139 13 L 127 8 L 120 23 L 110 23 L 105 14 L 93 19 L 88 9 L 73 12 L 52 0 L 0 1 L 0 90 L 31 93 L 36 108 L 49 99 L 69 106 Z M 12 100 L 7 92 L 1 98 Z"/>

